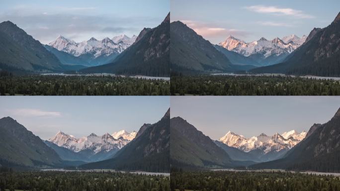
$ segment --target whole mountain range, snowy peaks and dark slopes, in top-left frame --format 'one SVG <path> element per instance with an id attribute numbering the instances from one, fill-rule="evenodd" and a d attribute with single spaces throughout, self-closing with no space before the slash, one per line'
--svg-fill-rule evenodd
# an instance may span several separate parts
<path id="1" fill-rule="evenodd" d="M 112 73 L 170 76 L 170 13 L 138 36 L 75 42 L 59 36 L 42 45 L 10 21 L 0 23 L 0 71 L 12 73 Z M 100 66 L 98 66 L 100 65 Z M 89 68 L 87 68 L 89 67 Z"/>

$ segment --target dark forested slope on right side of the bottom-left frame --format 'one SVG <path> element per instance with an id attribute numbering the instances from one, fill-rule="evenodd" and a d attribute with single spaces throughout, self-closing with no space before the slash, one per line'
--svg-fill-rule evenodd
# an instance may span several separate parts
<path id="1" fill-rule="evenodd" d="M 154 124 L 144 124 L 135 139 L 112 159 L 81 166 L 86 169 L 170 171 L 170 109 Z"/>

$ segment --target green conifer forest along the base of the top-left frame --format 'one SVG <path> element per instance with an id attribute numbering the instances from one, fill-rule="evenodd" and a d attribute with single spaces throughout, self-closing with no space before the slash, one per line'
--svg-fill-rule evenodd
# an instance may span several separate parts
<path id="1" fill-rule="evenodd" d="M 170 95 L 170 82 L 114 76 L 1 73 L 0 95 Z"/>

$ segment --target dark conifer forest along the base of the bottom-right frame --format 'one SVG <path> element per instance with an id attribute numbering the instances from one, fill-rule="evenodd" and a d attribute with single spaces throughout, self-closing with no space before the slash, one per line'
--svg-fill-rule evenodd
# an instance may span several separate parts
<path id="1" fill-rule="evenodd" d="M 171 191 L 339 191 L 340 178 L 290 172 L 173 172 Z"/>

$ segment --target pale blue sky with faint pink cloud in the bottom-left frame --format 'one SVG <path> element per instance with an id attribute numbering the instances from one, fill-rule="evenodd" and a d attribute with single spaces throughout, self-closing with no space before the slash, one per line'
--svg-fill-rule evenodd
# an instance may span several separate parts
<path id="1" fill-rule="evenodd" d="M 0 118 L 10 116 L 43 140 L 59 130 L 77 138 L 125 129 L 138 131 L 159 121 L 169 96 L 12 96 L 0 97 Z"/>

